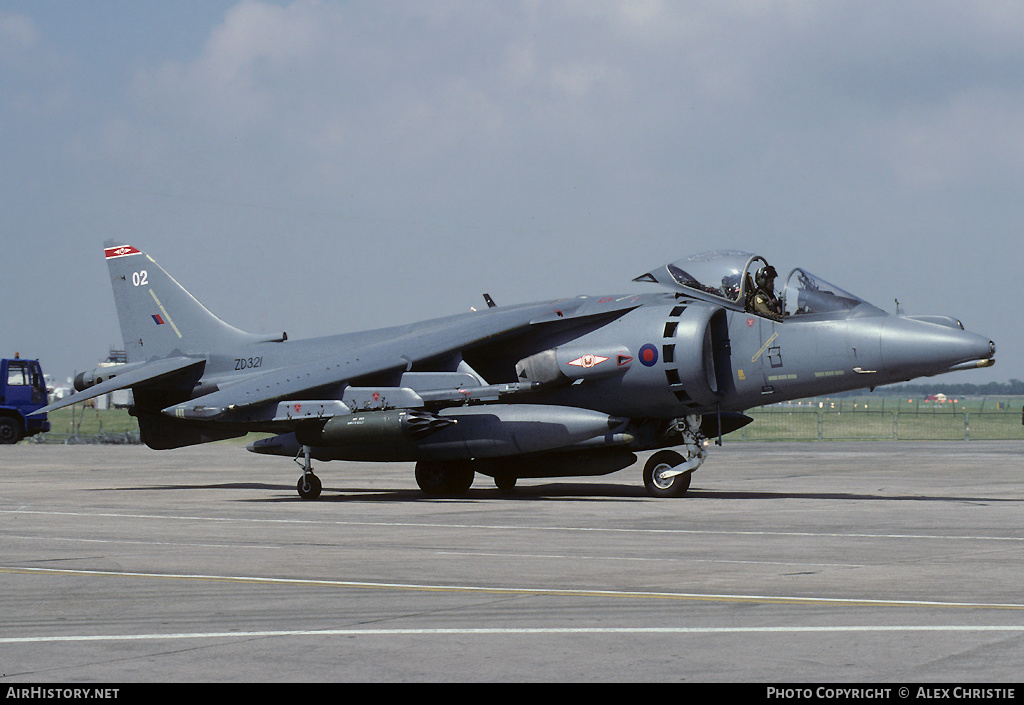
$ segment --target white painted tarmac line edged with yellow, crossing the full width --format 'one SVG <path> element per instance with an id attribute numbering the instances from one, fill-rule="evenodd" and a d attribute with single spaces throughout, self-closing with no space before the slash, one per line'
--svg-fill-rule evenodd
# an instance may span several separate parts
<path id="1" fill-rule="evenodd" d="M 62 568 L 0 567 L 0 574 L 97 576 L 103 578 L 132 578 L 156 580 L 194 580 L 249 585 L 284 585 L 292 587 L 341 587 L 361 590 L 409 590 L 417 592 L 477 593 L 504 595 L 534 595 L 556 597 L 631 597 L 640 599 L 673 599 L 706 603 L 758 603 L 765 605 L 831 605 L 841 607 L 930 607 L 976 610 L 1022 610 L 1024 604 L 1015 603 L 953 603 L 927 599 L 868 599 L 862 597 L 806 597 L 795 595 L 744 595 L 698 592 L 657 592 L 645 590 L 595 590 L 577 588 L 511 587 L 483 585 L 428 585 L 421 583 L 384 583 L 357 580 L 329 580 L 325 578 L 267 578 L 260 576 L 202 575 L 187 573 L 133 573 L 118 571 L 89 571 Z M 1022 627 L 1024 628 L 1024 627 Z"/>

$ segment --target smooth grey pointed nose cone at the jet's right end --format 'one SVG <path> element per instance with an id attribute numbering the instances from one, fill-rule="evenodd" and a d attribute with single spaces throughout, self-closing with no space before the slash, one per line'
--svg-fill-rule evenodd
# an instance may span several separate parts
<path id="1" fill-rule="evenodd" d="M 894 318 L 882 330 L 882 364 L 890 376 L 910 378 L 994 363 L 995 343 L 958 325 Z"/>

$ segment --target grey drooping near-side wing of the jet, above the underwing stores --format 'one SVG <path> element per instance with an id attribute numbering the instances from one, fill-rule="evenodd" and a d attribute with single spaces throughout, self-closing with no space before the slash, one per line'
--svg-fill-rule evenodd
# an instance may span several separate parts
<path id="1" fill-rule="evenodd" d="M 562 307 L 541 304 L 489 308 L 478 315 L 442 319 L 433 325 L 411 326 L 394 337 L 349 347 L 343 355 L 247 377 L 213 393 L 164 409 L 163 413 L 193 420 L 215 420 L 225 415 L 231 421 L 260 420 L 253 414 L 262 405 L 295 399 L 340 399 L 350 380 L 406 371 L 416 363 L 523 332 L 531 326 L 569 327 L 595 318 L 610 320 L 637 305 L 629 299 L 595 310 L 573 302 L 564 303 Z"/>

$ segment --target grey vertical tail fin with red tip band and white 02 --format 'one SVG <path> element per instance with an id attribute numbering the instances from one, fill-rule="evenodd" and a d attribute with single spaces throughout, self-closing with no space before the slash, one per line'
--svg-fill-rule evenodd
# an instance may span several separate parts
<path id="1" fill-rule="evenodd" d="M 141 250 L 112 241 L 103 246 L 129 362 L 269 339 L 218 319 Z"/>

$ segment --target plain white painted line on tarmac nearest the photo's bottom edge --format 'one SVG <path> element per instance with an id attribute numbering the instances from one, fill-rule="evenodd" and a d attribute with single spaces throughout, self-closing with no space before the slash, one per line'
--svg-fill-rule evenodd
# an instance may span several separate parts
<path id="1" fill-rule="evenodd" d="M 839 632 L 1024 632 L 1024 625 L 936 625 L 936 626 L 829 626 L 829 627 L 483 627 L 483 628 L 409 628 L 409 629 L 283 629 L 267 631 L 197 631 L 168 634 L 67 634 L 62 636 L 0 637 L 3 644 L 46 644 L 59 641 L 139 641 L 160 639 L 266 638 L 273 636 L 459 636 L 472 635 L 544 635 L 544 634 L 785 634 Z"/>

